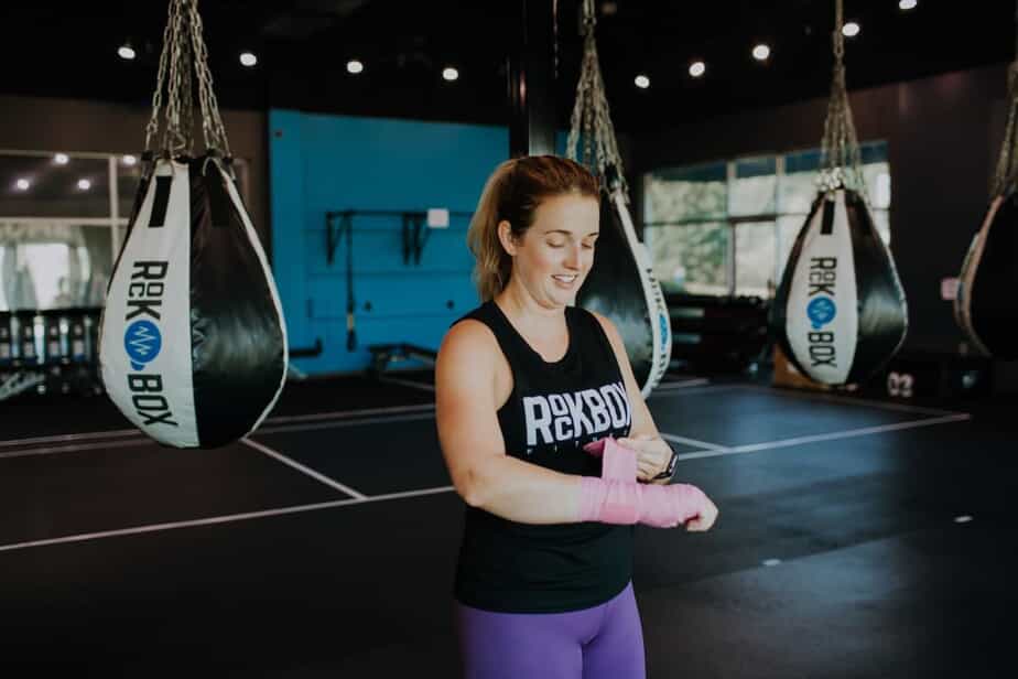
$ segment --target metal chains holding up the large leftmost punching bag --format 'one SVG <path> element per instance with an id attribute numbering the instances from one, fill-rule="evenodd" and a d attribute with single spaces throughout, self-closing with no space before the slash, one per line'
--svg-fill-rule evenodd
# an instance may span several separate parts
<path id="1" fill-rule="evenodd" d="M 229 157 L 226 128 L 219 116 L 219 105 L 208 69 L 208 51 L 202 36 L 198 0 L 170 0 L 166 29 L 163 32 L 163 50 L 159 58 L 159 75 L 152 96 L 152 117 L 145 127 L 147 154 L 151 155 L 156 149 L 170 157 L 193 154 L 193 77 L 198 85 L 198 107 L 205 147 L 209 152 Z M 166 88 L 165 120 L 161 120 L 163 87 Z M 162 123 L 165 127 L 160 137 Z"/>

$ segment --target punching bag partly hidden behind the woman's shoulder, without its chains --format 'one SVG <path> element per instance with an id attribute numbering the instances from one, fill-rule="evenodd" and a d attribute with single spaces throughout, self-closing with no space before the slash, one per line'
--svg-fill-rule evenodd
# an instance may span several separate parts
<path id="1" fill-rule="evenodd" d="M 647 398 L 672 356 L 672 330 L 661 285 L 647 247 L 637 238 L 617 175 L 609 168 L 609 193 L 602 200 L 594 266 L 576 304 L 611 319 L 626 345 L 632 374 Z"/>

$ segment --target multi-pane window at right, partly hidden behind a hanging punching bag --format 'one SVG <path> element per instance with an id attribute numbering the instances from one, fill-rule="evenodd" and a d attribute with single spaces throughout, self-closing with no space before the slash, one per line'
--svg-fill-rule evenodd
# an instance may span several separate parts
<path id="1" fill-rule="evenodd" d="M 873 217 L 890 242 L 887 144 L 860 146 Z M 668 292 L 773 297 L 820 177 L 819 150 L 656 170 L 645 241 Z"/>

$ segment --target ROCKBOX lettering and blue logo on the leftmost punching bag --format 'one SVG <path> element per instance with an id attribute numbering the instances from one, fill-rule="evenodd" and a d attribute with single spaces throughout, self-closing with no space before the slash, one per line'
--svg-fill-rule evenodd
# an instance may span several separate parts
<path id="1" fill-rule="evenodd" d="M 180 427 L 171 418 L 170 401 L 163 395 L 163 376 L 144 373 L 163 347 L 163 335 L 158 323 L 162 321 L 160 308 L 165 291 L 166 261 L 136 261 L 128 285 L 128 311 L 124 315 L 127 330 L 123 333 L 123 348 L 133 373 L 127 374 L 131 402 L 143 424 L 170 424 Z M 149 316 L 139 319 L 139 316 Z"/>

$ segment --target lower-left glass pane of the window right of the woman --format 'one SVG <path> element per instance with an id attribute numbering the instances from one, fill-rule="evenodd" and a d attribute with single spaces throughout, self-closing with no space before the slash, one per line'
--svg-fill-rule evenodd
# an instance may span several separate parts
<path id="1" fill-rule="evenodd" d="M 654 276 L 669 292 L 728 293 L 728 239 L 725 224 L 648 227 Z"/>

